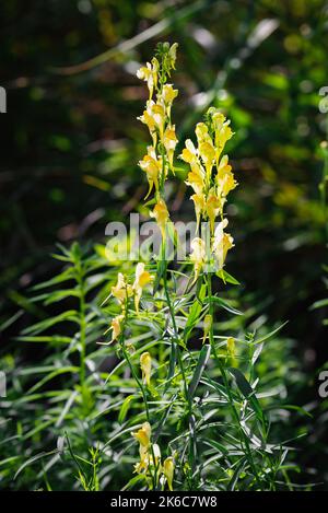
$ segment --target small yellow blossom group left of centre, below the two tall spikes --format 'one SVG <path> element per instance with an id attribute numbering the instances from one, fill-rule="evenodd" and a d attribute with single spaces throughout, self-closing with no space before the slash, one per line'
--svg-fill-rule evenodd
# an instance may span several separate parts
<path id="1" fill-rule="evenodd" d="M 139 313 L 139 303 L 142 295 L 142 290 L 153 280 L 145 269 L 144 264 L 140 261 L 136 267 L 136 279 L 133 284 L 126 281 L 125 276 L 119 272 L 117 276 L 116 285 L 112 287 L 112 294 L 118 301 L 120 305 L 120 314 L 114 317 L 112 320 L 110 328 L 113 330 L 112 341 L 116 340 L 121 334 L 121 326 L 126 318 L 128 301 L 130 298 L 134 298 L 134 308 L 137 314 Z"/>

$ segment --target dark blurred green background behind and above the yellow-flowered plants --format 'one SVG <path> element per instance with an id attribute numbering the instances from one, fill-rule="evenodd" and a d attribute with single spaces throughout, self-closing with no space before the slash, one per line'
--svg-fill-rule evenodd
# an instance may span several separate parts
<path id="1" fill-rule="evenodd" d="M 229 153 L 239 187 L 229 207 L 236 247 L 227 269 L 262 323 L 289 320 L 283 334 L 307 376 L 294 400 L 314 405 L 320 419 L 309 424 L 301 457 L 324 479 L 317 377 L 327 335 L 325 310 L 312 305 L 327 296 L 319 193 L 327 3 L 11 0 L 1 2 L 0 24 L 8 94 L 0 115 L 0 351 L 31 322 L 26 288 L 58 268 L 49 258 L 57 242 L 104 241 L 108 221 L 144 212 L 147 180 L 137 163 L 149 138 L 137 116 L 148 92 L 136 70 L 159 40 L 177 42 L 179 150 L 209 105 L 232 119 Z M 173 218 L 191 219 L 183 182 L 168 190 Z"/>

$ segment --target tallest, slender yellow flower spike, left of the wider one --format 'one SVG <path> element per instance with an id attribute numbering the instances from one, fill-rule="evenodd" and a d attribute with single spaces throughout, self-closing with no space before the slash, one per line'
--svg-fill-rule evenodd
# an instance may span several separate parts
<path id="1" fill-rule="evenodd" d="M 151 215 L 156 220 L 163 238 L 165 226 L 169 218 L 164 200 L 164 183 L 168 171 L 174 173 L 174 152 L 178 142 L 175 133 L 175 125 L 171 120 L 171 109 L 178 91 L 173 84 L 166 83 L 171 77 L 171 70 L 175 68 L 177 44 L 169 46 L 167 43 L 157 49 L 157 57 L 145 67 L 138 70 L 137 77 L 144 80 L 149 89 L 149 100 L 140 119 L 147 125 L 152 144 L 148 147 L 147 154 L 139 162 L 139 166 L 145 172 L 149 191 L 147 198 L 154 189 L 155 207 Z"/>

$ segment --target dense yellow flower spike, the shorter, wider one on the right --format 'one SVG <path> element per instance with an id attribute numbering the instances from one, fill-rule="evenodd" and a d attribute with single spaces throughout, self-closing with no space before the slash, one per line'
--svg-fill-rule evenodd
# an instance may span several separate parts
<path id="1" fill-rule="evenodd" d="M 201 220 L 207 221 L 210 228 L 210 250 L 201 237 L 195 237 L 191 242 L 190 259 L 194 263 L 195 281 L 212 256 L 216 268 L 222 269 L 226 254 L 234 245 L 233 237 L 224 232 L 227 219 L 223 218 L 226 197 L 237 186 L 229 156 L 222 155 L 232 136 L 230 120 L 211 107 L 206 115 L 206 123 L 196 126 L 197 148 L 187 139 L 180 155 L 190 167 L 186 184 L 194 189 L 190 199 L 195 205 L 197 230 Z M 215 228 L 218 217 L 221 222 Z"/>

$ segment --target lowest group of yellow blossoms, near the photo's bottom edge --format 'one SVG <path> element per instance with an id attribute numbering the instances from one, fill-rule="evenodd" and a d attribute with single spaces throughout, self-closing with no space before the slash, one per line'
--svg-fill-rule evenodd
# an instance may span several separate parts
<path id="1" fill-rule="evenodd" d="M 174 458 L 173 456 L 167 457 L 162 465 L 160 446 L 151 442 L 151 433 L 149 422 L 144 422 L 137 432 L 132 433 L 132 436 L 139 442 L 140 455 L 140 462 L 134 465 L 134 473 L 144 474 L 150 479 L 154 478 L 156 485 L 165 479 L 172 491 Z"/>

